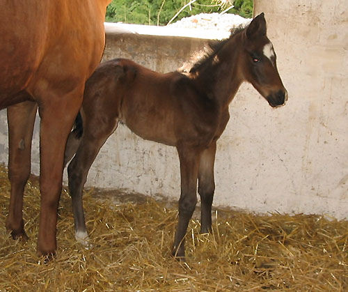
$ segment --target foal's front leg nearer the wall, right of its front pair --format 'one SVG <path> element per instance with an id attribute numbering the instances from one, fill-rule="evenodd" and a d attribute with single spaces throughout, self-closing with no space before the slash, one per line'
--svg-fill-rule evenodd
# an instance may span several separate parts
<path id="1" fill-rule="evenodd" d="M 212 202 L 215 191 L 214 162 L 216 142 L 200 155 L 198 194 L 200 194 L 200 233 L 212 231 Z"/>

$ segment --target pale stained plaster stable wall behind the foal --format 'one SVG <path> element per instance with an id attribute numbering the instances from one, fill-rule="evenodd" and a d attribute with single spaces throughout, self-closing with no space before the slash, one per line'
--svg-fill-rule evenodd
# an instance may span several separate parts
<path id="1" fill-rule="evenodd" d="M 289 101 L 271 109 L 252 86 L 239 90 L 218 142 L 215 206 L 348 216 L 347 7 L 347 0 L 255 0 L 255 14 L 266 15 Z M 206 42 L 120 34 L 124 29 L 108 34 L 104 59 L 127 57 L 161 72 L 182 66 Z M 5 128 L 2 114 L 0 160 L 6 162 Z M 36 174 L 37 138 L 35 132 Z M 100 151 L 87 185 L 178 199 L 177 153 L 121 125 Z"/>

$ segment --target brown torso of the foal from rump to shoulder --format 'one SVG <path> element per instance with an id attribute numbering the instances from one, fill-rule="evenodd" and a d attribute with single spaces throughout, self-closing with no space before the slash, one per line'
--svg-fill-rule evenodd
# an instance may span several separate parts
<path id="1" fill-rule="evenodd" d="M 159 73 L 127 59 L 104 62 L 86 83 L 83 112 L 117 119 L 143 139 L 177 146 L 211 139 L 215 105 L 193 79 L 180 72 Z"/>

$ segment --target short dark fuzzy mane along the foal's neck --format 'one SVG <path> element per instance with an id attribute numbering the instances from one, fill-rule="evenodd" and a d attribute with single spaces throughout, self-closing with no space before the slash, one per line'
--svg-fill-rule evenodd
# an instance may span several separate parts
<path id="1" fill-rule="evenodd" d="M 189 73 L 191 75 L 197 76 L 200 75 L 200 72 L 202 72 L 202 70 L 204 70 L 205 68 L 212 68 L 212 66 L 214 66 L 216 63 L 219 63 L 221 61 L 221 59 L 219 58 L 219 52 L 221 51 L 223 45 L 228 43 L 228 41 L 231 40 L 235 35 L 237 35 L 237 33 L 244 31 L 244 29 L 246 29 L 246 26 L 237 26 L 235 29 L 230 30 L 231 33 L 228 38 L 224 40 L 214 40 L 212 42 L 209 42 L 205 56 L 203 56 L 193 64 L 193 66 L 189 70 Z"/>

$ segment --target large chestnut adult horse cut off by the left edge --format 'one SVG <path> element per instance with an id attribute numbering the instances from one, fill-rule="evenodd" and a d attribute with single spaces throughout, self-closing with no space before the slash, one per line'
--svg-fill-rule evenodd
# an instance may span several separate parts
<path id="1" fill-rule="evenodd" d="M 81 107 L 84 84 L 100 63 L 110 0 L 32 0 L 0 3 L 0 109 L 7 107 L 11 184 L 6 229 L 28 237 L 23 194 L 31 171 L 36 111 L 40 123 L 38 254 L 56 251 L 66 139 Z"/>

